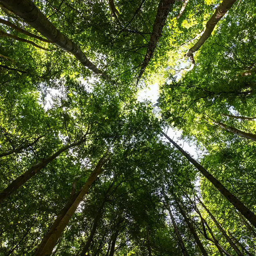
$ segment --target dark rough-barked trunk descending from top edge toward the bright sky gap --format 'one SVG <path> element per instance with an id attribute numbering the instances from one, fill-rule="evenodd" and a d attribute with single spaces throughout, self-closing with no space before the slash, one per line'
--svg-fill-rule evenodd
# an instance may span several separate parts
<path id="1" fill-rule="evenodd" d="M 148 65 L 148 62 L 150 61 L 150 58 L 152 57 L 152 54 L 155 50 L 158 39 L 162 34 L 164 23 L 166 21 L 168 13 L 170 12 L 170 9 L 172 8 L 173 3 L 174 3 L 174 0 L 160 0 L 160 3 L 157 8 L 156 19 L 153 25 L 148 49 L 140 69 L 140 73 L 137 79 L 137 84 L 140 81 L 140 78 L 142 77 L 142 74 L 144 73 L 146 66 Z"/>

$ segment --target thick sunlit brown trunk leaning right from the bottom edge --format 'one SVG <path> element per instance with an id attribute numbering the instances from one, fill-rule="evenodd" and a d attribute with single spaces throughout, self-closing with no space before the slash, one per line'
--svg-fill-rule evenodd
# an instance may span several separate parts
<path id="1" fill-rule="evenodd" d="M 84 196 L 88 193 L 90 186 L 92 186 L 93 182 L 102 172 L 102 165 L 108 160 L 106 160 L 106 156 L 108 155 L 109 150 L 102 156 L 102 158 L 100 158 L 98 164 L 90 174 L 84 186 L 82 186 L 80 191 L 77 192 L 72 198 L 70 198 L 68 204 L 66 204 L 66 206 L 60 212 L 60 214 L 57 216 L 50 230 L 42 239 L 42 242 L 38 246 L 34 256 L 51 255 L 54 246 L 56 245 L 62 232 L 68 225 L 68 222 L 75 213 L 78 205 L 80 204 Z"/>

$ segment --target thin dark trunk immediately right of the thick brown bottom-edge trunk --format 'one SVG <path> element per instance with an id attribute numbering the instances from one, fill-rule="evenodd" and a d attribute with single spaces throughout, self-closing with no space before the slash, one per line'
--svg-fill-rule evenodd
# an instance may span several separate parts
<path id="1" fill-rule="evenodd" d="M 98 208 L 98 211 L 96 213 L 96 216 L 94 218 L 94 222 L 93 222 L 93 225 L 92 225 L 92 230 L 90 232 L 90 236 L 88 237 L 87 241 L 86 241 L 86 244 L 81 252 L 81 256 L 84 256 L 86 255 L 86 252 L 88 252 L 89 248 L 90 248 L 90 245 L 92 243 L 92 240 L 93 240 L 93 237 L 94 237 L 94 234 L 96 232 L 96 228 L 97 228 L 97 225 L 98 225 L 98 221 L 100 220 L 100 216 L 101 216 L 101 213 L 102 213 L 102 210 L 103 210 L 103 207 L 104 207 L 104 204 L 108 198 L 108 192 L 110 191 L 110 189 L 112 188 L 112 186 L 114 185 L 114 181 L 112 182 L 112 184 L 108 187 L 108 190 L 106 191 L 106 195 L 104 196 L 104 199 L 102 201 L 102 203 L 100 204 L 100 207 Z"/>

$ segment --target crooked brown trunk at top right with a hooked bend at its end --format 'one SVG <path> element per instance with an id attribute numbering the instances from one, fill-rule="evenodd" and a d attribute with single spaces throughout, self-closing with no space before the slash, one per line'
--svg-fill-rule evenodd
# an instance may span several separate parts
<path id="1" fill-rule="evenodd" d="M 233 6 L 234 2 L 236 2 L 236 0 L 222 1 L 222 3 L 215 10 L 210 20 L 208 20 L 208 22 L 206 23 L 206 29 L 204 30 L 204 34 L 202 34 L 198 42 L 188 50 L 186 57 L 188 57 L 191 62 L 190 70 L 194 67 L 194 64 L 195 64 L 193 53 L 196 52 L 204 44 L 204 42 L 212 34 L 212 31 L 214 30 L 216 24 L 226 14 L 226 12 L 228 12 L 228 10 Z"/>

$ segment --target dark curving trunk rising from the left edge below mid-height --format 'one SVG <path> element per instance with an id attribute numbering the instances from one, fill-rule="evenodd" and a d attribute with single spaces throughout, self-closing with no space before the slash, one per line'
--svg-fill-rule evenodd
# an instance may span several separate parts
<path id="1" fill-rule="evenodd" d="M 65 146 L 65 147 L 61 148 L 60 150 L 58 150 L 52 156 L 49 156 L 48 158 L 45 158 L 41 162 L 30 167 L 26 172 L 24 172 L 22 175 L 20 175 L 18 178 L 16 178 L 6 189 L 4 189 L 0 193 L 0 202 L 2 202 L 4 199 L 6 199 L 8 196 L 10 196 L 10 194 L 14 193 L 16 190 L 18 190 L 18 188 L 20 188 L 25 182 L 27 182 L 30 178 L 32 178 L 36 173 L 38 173 L 40 170 L 42 170 L 42 168 L 44 168 L 52 160 L 54 160 L 56 157 L 58 157 L 62 152 L 66 151 L 69 148 L 72 148 L 74 146 L 78 146 L 85 140 L 86 139 L 83 139 L 83 140 L 80 140 L 79 142 Z"/>

